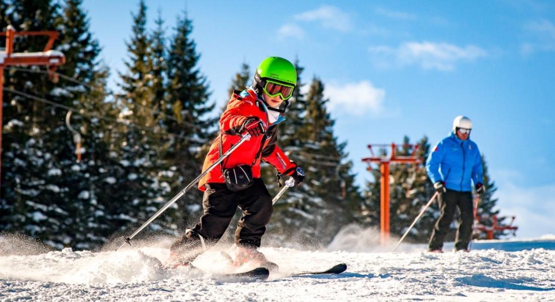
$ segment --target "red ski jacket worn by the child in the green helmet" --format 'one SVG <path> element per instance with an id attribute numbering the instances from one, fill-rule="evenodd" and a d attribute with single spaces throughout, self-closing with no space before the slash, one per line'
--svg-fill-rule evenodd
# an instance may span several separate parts
<path id="1" fill-rule="evenodd" d="M 249 165 L 252 167 L 253 177 L 260 178 L 261 160 L 270 163 L 280 173 L 295 166 L 295 163 L 291 162 L 280 147 L 276 145 L 278 141 L 276 130 L 279 123 L 275 122 L 268 126 L 268 114 L 266 114 L 265 105 L 257 98 L 256 93 L 250 89 L 238 93 L 239 91 L 234 91 L 228 107 L 220 116 L 220 135 L 210 146 L 210 150 L 204 159 L 203 171 L 220 157 L 220 141 L 223 143 L 221 153 L 225 153 L 232 145 L 237 144 L 241 139 L 237 132 L 249 117 L 258 117 L 266 127 L 266 132 L 264 135 L 251 137 L 250 140 L 245 141 L 224 159 L 223 166 L 218 165 L 206 173 L 199 181 L 199 190 L 201 191 L 206 190 L 204 187 L 206 183 L 224 183 L 222 170 L 225 168 Z"/>

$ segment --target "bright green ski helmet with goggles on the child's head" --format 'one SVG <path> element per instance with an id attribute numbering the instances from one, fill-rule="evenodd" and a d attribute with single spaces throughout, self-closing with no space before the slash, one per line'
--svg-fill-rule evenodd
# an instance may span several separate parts
<path id="1" fill-rule="evenodd" d="M 270 95 L 280 95 L 281 99 L 289 103 L 297 84 L 297 70 L 288 60 L 280 57 L 264 59 L 254 74 L 254 89 L 261 95 L 263 92 Z M 284 110 L 279 110 L 281 112 Z"/>

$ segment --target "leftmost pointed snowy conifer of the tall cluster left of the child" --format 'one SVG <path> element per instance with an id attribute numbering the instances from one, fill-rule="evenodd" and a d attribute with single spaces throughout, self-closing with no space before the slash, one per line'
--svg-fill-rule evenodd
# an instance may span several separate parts
<path id="1" fill-rule="evenodd" d="M 118 192 L 113 198 L 118 203 L 120 217 L 134 222 L 123 223 L 123 228 L 137 227 L 150 218 L 166 202 L 163 196 L 167 194 L 166 188 L 158 182 L 158 173 L 164 170 L 163 162 L 159 160 L 159 145 L 164 131 L 158 122 L 160 117 L 153 114 L 156 106 L 152 75 L 153 44 L 146 24 L 147 6 L 140 1 L 137 14 L 133 14 L 133 34 L 127 43 L 127 71 L 120 74 L 122 93 L 118 96 L 124 106 L 119 119 L 128 125 L 119 129 L 123 135 L 115 142 L 121 147 L 121 174 L 114 176 L 117 181 L 114 187 L 118 188 Z M 152 231 L 169 230 L 170 223 L 168 216 L 165 216 L 149 227 Z"/>

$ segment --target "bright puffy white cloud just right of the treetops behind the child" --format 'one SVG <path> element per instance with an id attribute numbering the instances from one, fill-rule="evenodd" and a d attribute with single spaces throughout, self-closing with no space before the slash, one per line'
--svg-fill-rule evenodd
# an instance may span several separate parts
<path id="1" fill-rule="evenodd" d="M 375 88 L 370 81 L 345 85 L 332 83 L 325 86 L 324 96 L 330 100 L 330 110 L 352 115 L 363 115 L 366 112 L 376 115 L 383 110 L 385 90 Z"/>

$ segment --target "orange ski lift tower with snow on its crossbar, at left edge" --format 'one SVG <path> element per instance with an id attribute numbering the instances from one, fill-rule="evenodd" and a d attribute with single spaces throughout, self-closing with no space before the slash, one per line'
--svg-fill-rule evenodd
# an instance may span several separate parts
<path id="1" fill-rule="evenodd" d="M 27 37 L 31 35 L 46 35 L 48 42 L 42 52 L 36 53 L 14 53 L 13 42 L 16 37 Z M 2 167 L 2 90 L 4 88 L 3 75 L 6 66 L 29 66 L 29 65 L 46 65 L 51 79 L 57 81 L 57 75 L 54 71 L 59 65 L 65 63 L 65 56 L 58 50 L 52 50 L 54 40 L 58 38 L 58 32 L 16 32 L 12 25 L 8 25 L 6 32 L 0 32 L 0 37 L 6 36 L 6 49 L 0 49 L 0 172 Z"/>

